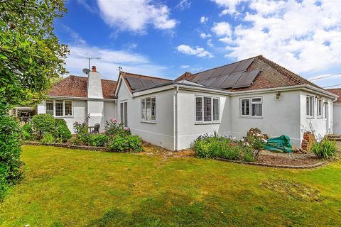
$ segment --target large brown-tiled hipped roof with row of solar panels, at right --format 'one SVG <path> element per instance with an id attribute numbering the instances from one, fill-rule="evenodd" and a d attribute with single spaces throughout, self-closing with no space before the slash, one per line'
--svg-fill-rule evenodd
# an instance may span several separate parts
<path id="1" fill-rule="evenodd" d="M 179 79 L 186 79 L 204 84 L 207 87 L 228 89 L 230 91 L 287 87 L 301 84 L 309 84 L 323 89 L 262 55 L 196 74 L 183 74 L 175 81 Z"/>

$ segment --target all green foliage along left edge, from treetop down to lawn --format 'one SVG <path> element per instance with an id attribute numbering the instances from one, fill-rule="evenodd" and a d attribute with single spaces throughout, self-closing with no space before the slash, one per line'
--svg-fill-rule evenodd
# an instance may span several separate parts
<path id="1" fill-rule="evenodd" d="M 66 72 L 67 46 L 53 31 L 65 11 L 60 0 L 0 0 L 0 199 L 21 177 L 20 128 L 7 110 L 38 103 Z"/>

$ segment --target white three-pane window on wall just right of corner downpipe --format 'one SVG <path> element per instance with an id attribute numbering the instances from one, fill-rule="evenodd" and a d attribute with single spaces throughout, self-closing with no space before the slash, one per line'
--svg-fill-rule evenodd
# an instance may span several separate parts
<path id="1" fill-rule="evenodd" d="M 195 96 L 195 121 L 205 123 L 220 121 L 220 99 Z"/>

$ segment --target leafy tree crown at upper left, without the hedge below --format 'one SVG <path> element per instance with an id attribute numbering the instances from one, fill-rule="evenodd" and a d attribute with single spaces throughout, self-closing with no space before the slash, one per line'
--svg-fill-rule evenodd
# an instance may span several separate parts
<path id="1" fill-rule="evenodd" d="M 53 31 L 65 11 L 60 0 L 0 0 L 0 101 L 7 108 L 42 100 L 66 72 L 67 46 Z"/>

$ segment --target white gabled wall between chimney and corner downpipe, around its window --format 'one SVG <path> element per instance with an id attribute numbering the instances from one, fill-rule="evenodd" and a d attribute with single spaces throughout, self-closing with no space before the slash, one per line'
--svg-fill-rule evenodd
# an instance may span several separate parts
<path id="1" fill-rule="evenodd" d="M 174 90 L 156 92 L 146 96 L 131 97 L 126 84 L 119 87 L 117 101 L 117 120 L 120 120 L 120 103 L 128 103 L 128 126 L 131 133 L 143 140 L 163 148 L 173 150 L 173 94 Z M 156 97 L 156 123 L 141 121 L 141 99 Z"/>

